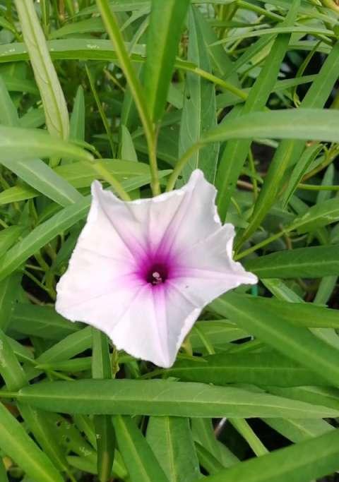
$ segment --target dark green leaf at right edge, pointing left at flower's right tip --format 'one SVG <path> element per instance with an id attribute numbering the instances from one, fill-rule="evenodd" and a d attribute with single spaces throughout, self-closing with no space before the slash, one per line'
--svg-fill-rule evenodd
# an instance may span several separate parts
<path id="1" fill-rule="evenodd" d="M 337 203 L 339 204 L 339 199 Z M 246 260 L 244 266 L 260 278 L 320 278 L 339 275 L 339 246 L 277 251 Z"/>

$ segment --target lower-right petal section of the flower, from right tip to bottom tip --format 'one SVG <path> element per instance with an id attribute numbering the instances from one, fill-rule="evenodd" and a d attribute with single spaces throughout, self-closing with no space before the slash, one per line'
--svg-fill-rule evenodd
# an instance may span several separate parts
<path id="1" fill-rule="evenodd" d="M 185 265 L 169 279 L 157 317 L 167 326 L 167 364 L 172 366 L 184 338 L 208 303 L 240 284 L 258 279 L 232 260 L 234 227 L 225 224 L 205 241 L 184 253 Z M 227 255 L 226 255 L 227 253 Z M 180 272 L 181 271 L 181 272 Z"/>

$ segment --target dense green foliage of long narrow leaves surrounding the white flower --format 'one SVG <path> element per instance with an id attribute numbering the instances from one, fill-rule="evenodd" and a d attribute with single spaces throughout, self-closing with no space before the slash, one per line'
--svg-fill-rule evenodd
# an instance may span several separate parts
<path id="1" fill-rule="evenodd" d="M 0 29 L 0 481 L 338 480 L 337 2 L 1 0 Z M 165 370 L 56 284 L 94 179 L 197 167 L 259 283 Z"/>

